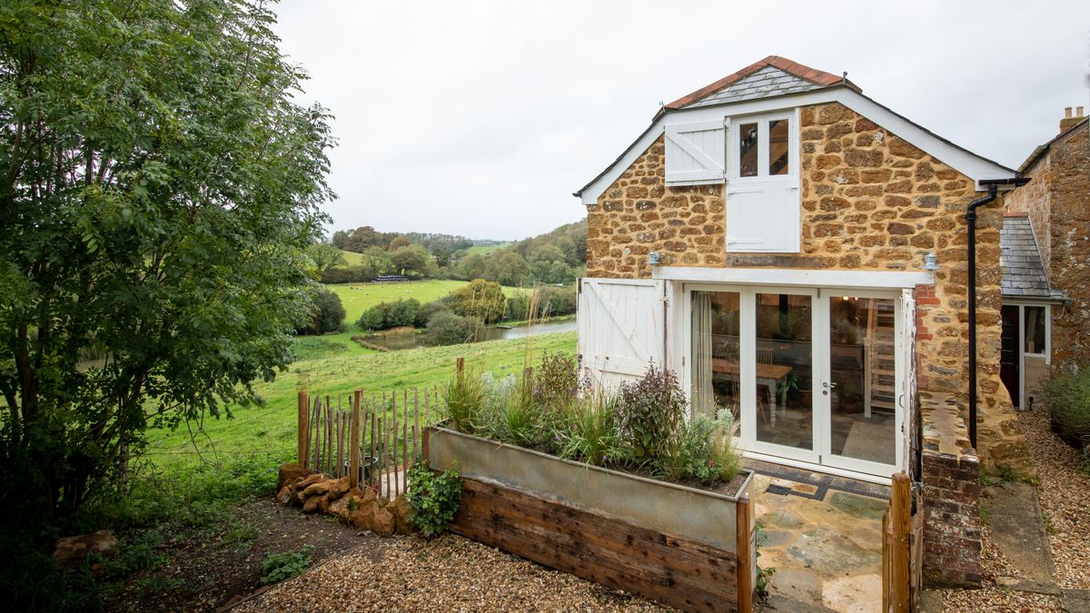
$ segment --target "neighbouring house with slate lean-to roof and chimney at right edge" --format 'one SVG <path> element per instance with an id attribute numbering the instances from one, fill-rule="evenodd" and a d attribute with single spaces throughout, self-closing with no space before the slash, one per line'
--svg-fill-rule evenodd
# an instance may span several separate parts
<path id="1" fill-rule="evenodd" d="M 1065 110 L 1005 199 L 1002 374 L 1016 407 L 1052 368 L 1090 358 L 1090 120 Z"/>

